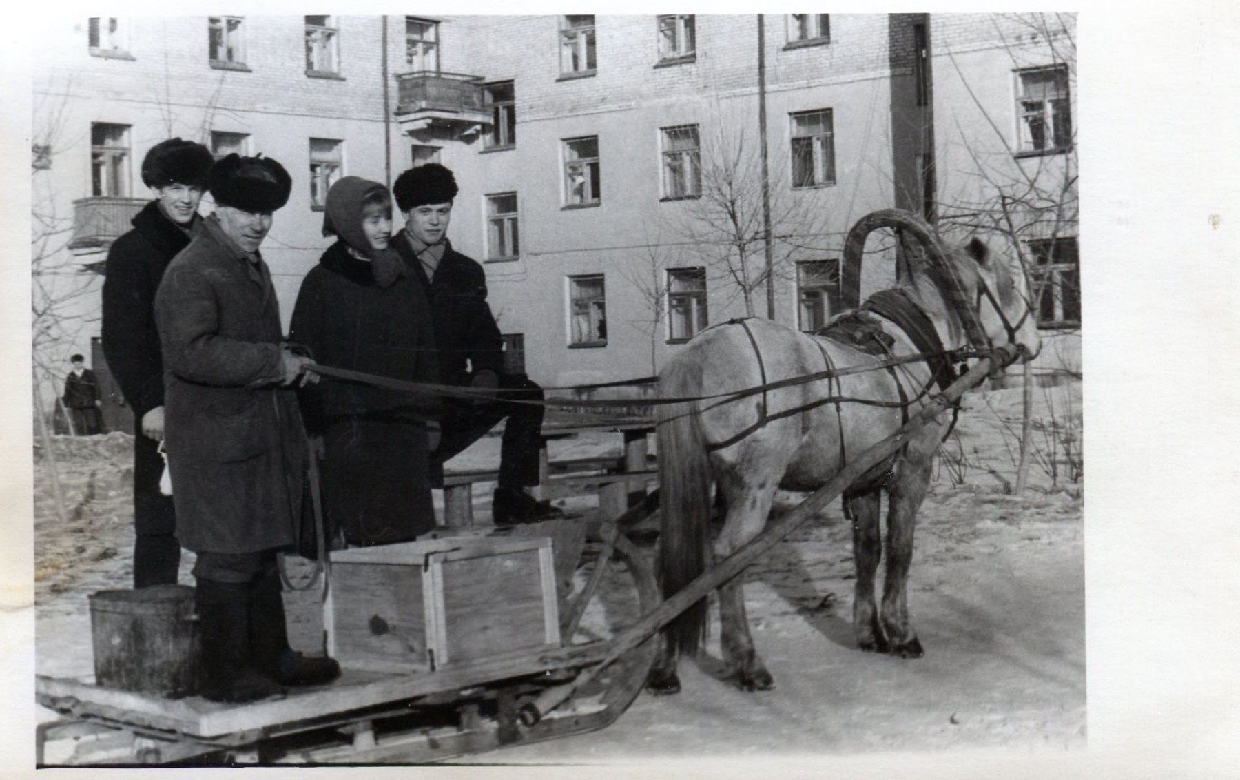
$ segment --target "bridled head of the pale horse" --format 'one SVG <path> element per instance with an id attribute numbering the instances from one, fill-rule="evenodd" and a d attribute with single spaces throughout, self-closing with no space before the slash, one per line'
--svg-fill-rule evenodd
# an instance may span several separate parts
<path id="1" fill-rule="evenodd" d="M 1021 348 L 1021 362 L 1037 357 L 1042 336 L 1024 284 L 1019 284 L 1007 263 L 976 237 L 952 254 L 962 281 L 971 288 L 967 293 L 991 346 L 1014 343 Z"/>

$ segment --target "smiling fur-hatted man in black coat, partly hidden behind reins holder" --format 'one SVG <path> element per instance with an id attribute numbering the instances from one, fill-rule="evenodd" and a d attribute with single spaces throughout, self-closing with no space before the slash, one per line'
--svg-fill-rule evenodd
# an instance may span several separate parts
<path id="1" fill-rule="evenodd" d="M 207 148 L 172 138 L 146 153 L 143 182 L 155 200 L 108 250 L 103 280 L 103 355 L 134 412 L 134 588 L 176 583 L 181 543 L 172 499 L 160 492 L 164 458 L 164 361 L 155 329 L 155 290 L 198 223 Z"/>

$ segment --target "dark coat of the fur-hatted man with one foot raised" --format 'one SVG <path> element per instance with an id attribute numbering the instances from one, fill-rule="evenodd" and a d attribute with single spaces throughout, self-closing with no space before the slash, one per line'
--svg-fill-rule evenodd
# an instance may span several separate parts
<path id="1" fill-rule="evenodd" d="M 465 386 L 472 373 L 503 373 L 503 339 L 486 303 L 486 273 L 477 260 L 453 249 L 444 252 L 434 279 L 427 273 L 409 246 L 405 231 L 392 239 L 405 268 L 417 274 L 430 301 L 439 355 L 439 378 L 445 384 Z M 472 368 L 472 373 L 471 373 Z"/>

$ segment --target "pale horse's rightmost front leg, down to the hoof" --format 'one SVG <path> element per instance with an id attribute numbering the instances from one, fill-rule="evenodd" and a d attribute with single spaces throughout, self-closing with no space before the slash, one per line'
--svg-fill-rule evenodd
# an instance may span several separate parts
<path id="1" fill-rule="evenodd" d="M 882 621 L 890 644 L 889 652 L 904 658 L 918 658 L 924 652 L 909 623 L 908 582 L 913 563 L 913 530 L 929 484 L 930 458 L 909 458 L 900 464 L 899 476 L 889 494 Z"/>

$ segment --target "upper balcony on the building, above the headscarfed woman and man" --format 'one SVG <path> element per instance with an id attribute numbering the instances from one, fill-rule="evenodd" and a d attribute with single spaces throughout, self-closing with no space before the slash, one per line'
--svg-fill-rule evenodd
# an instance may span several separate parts
<path id="1" fill-rule="evenodd" d="M 396 119 L 404 133 L 430 125 L 461 126 L 461 133 L 477 133 L 491 124 L 480 76 L 418 71 L 398 73 Z"/>

